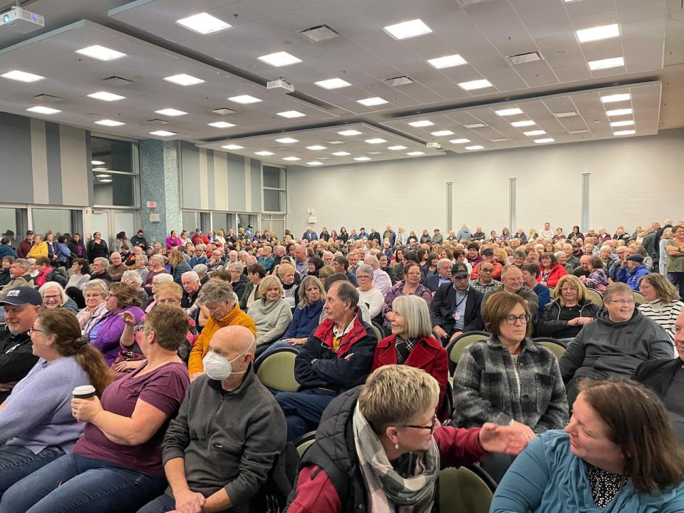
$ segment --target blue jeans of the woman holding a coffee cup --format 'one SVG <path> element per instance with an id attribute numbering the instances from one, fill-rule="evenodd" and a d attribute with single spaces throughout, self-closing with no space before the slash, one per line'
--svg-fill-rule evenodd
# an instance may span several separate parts
<path id="1" fill-rule="evenodd" d="M 0 513 L 137 511 L 165 488 L 163 477 L 67 454 L 9 487 Z"/>

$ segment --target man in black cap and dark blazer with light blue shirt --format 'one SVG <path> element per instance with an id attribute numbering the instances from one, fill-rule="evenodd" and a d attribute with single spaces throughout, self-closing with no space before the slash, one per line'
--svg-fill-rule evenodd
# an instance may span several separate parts
<path id="1" fill-rule="evenodd" d="M 442 343 L 465 331 L 482 329 L 482 292 L 472 289 L 465 264 L 454 264 L 449 283 L 440 285 L 430 305 L 430 321 Z"/>

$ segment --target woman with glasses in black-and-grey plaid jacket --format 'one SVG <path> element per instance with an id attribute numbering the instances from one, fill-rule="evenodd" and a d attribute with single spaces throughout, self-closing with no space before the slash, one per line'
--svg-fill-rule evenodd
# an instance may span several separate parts
<path id="1" fill-rule="evenodd" d="M 533 343 L 527 301 L 497 292 L 482 311 L 486 341 L 472 343 L 454 373 L 453 419 L 470 427 L 486 422 L 512 425 L 529 440 L 568 422 L 568 401 L 554 353 Z M 482 462 L 497 482 L 509 458 Z"/>

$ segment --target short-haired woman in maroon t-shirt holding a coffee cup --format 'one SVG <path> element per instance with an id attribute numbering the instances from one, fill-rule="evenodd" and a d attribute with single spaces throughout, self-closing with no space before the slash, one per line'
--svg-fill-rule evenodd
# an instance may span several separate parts
<path id="1" fill-rule="evenodd" d="M 190 384 L 176 354 L 186 331 L 187 316 L 177 306 L 150 312 L 140 345 L 147 364 L 105 388 L 101 402 L 72 399 L 73 416 L 85 423 L 73 454 L 11 486 L 0 511 L 130 512 L 162 494 L 162 440 Z"/>

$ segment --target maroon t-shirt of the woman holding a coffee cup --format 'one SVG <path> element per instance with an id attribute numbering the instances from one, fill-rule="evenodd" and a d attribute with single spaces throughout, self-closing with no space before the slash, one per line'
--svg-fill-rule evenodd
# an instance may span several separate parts
<path id="1" fill-rule="evenodd" d="M 164 477 L 162 440 L 168 423 L 175 418 L 180 403 L 185 398 L 190 376 L 182 363 L 167 363 L 138 377 L 146 366 L 147 364 L 105 388 L 102 407 L 108 412 L 130 417 L 140 399 L 167 415 L 167 421 L 162 427 L 141 445 L 119 445 L 109 440 L 100 428 L 87 423 L 83 437 L 76 442 L 73 452 L 83 457 L 115 463 L 142 474 Z"/>

